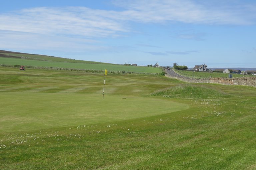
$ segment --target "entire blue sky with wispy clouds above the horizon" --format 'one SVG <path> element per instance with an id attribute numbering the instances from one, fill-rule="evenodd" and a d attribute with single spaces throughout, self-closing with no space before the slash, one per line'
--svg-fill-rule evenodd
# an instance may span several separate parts
<path id="1" fill-rule="evenodd" d="M 9 0 L 0 21 L 3 50 L 118 64 L 256 67 L 253 0 Z"/>

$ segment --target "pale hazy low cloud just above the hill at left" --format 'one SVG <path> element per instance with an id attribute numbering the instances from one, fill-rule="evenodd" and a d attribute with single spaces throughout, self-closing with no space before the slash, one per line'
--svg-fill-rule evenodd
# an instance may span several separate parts
<path id="1" fill-rule="evenodd" d="M 0 30 L 1 49 L 12 50 L 48 50 L 78 53 L 101 52 L 111 49 L 110 46 L 102 45 L 101 42 L 74 38 L 46 36 L 43 34 L 4 31 Z"/>

